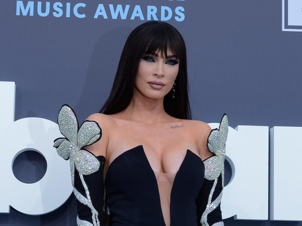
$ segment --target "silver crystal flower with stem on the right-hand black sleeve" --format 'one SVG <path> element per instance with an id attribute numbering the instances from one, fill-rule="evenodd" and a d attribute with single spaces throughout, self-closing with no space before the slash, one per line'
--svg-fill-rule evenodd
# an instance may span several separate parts
<path id="1" fill-rule="evenodd" d="M 202 226 L 209 226 L 209 223 L 207 222 L 207 216 L 216 207 L 218 207 L 219 203 L 221 202 L 222 191 L 224 187 L 224 159 L 226 154 L 227 133 L 228 133 L 228 120 L 226 114 L 223 114 L 220 121 L 219 129 L 217 128 L 212 129 L 207 141 L 208 149 L 211 152 L 215 153 L 215 155 L 204 161 L 204 178 L 207 180 L 214 180 L 214 184 L 210 191 L 208 204 L 200 220 Z M 217 180 L 220 174 L 222 179 L 222 190 L 219 196 L 213 202 L 211 202 L 217 184 Z M 223 225 L 224 223 L 221 221 L 213 224 L 212 226 L 223 226 Z"/>

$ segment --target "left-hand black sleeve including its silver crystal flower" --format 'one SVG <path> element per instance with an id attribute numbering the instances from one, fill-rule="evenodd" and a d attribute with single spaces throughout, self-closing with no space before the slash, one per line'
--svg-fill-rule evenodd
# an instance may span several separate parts
<path id="1" fill-rule="evenodd" d="M 65 160 L 69 160 L 71 184 L 77 203 L 78 226 L 104 225 L 105 156 L 95 156 L 83 148 L 102 137 L 102 129 L 96 121 L 85 120 L 81 126 L 74 110 L 62 105 L 58 115 L 59 130 L 64 137 L 53 141 L 53 147 Z"/>

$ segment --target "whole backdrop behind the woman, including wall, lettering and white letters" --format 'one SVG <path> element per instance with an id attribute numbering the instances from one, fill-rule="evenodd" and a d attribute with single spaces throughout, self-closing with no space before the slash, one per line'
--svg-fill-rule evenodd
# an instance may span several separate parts
<path id="1" fill-rule="evenodd" d="M 225 225 L 302 226 L 302 0 L 0 1 L 0 225 L 76 225 L 53 140 L 107 100 L 130 32 L 148 20 L 187 46 L 194 120 L 229 120 Z"/>

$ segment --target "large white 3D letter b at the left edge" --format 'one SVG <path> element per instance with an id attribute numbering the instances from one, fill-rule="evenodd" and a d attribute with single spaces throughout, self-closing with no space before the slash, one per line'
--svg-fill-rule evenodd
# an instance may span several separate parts
<path id="1" fill-rule="evenodd" d="M 63 135 L 59 126 L 47 119 L 14 121 L 14 97 L 15 83 L 0 82 L 0 213 L 9 213 L 10 206 L 31 215 L 49 213 L 72 192 L 69 161 L 53 148 L 53 140 Z M 14 158 L 26 150 L 38 150 L 47 161 L 44 177 L 33 184 L 20 182 L 12 171 Z"/>

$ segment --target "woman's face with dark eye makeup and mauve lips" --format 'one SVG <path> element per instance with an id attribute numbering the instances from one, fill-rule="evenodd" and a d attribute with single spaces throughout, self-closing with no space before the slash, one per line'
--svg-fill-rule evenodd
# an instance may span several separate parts
<path id="1" fill-rule="evenodd" d="M 138 92 L 151 99 L 160 99 L 169 93 L 179 69 L 179 60 L 172 55 L 168 50 L 166 59 L 160 52 L 142 56 L 135 80 Z M 152 84 L 156 82 L 163 85 Z"/>

